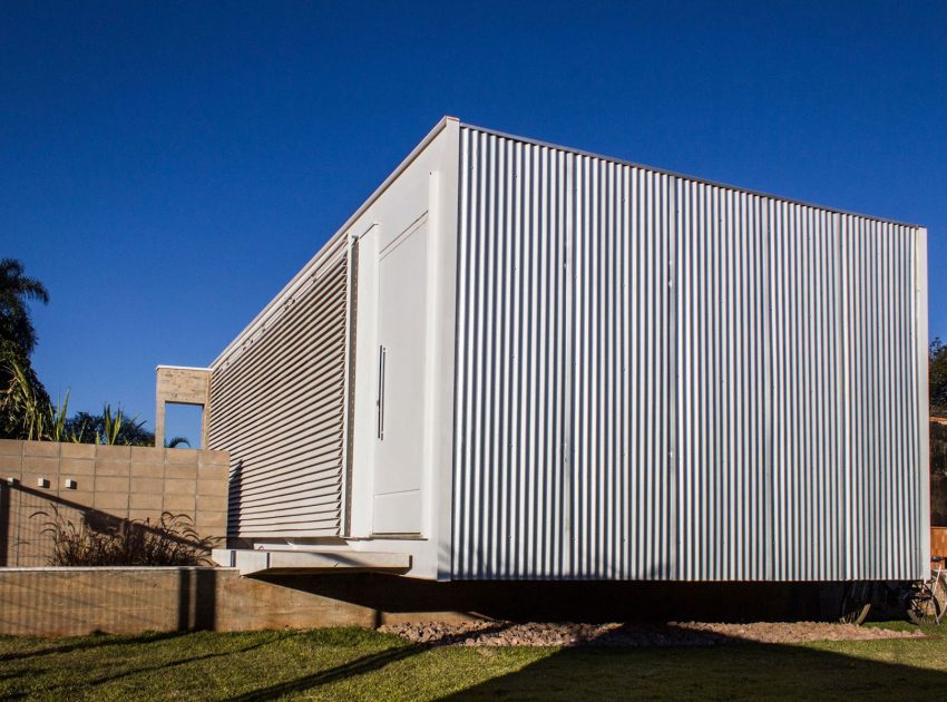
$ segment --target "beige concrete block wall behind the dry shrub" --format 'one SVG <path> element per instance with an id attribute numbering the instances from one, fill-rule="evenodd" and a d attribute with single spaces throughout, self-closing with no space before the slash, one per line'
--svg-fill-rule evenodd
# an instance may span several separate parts
<path id="1" fill-rule="evenodd" d="M 0 440 L 0 566 L 47 565 L 52 511 L 152 524 L 170 511 L 223 539 L 227 464 L 226 451 Z"/>

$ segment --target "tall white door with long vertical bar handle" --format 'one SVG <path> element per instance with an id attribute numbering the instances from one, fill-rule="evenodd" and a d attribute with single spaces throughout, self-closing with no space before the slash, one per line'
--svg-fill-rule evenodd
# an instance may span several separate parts
<path id="1" fill-rule="evenodd" d="M 372 532 L 421 533 L 427 221 L 379 255 Z"/>

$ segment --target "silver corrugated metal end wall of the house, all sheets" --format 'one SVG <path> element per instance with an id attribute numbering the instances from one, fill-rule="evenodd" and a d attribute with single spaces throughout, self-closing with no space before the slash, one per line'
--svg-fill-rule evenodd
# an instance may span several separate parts
<path id="1" fill-rule="evenodd" d="M 455 577 L 922 572 L 917 228 L 460 148 Z"/>

